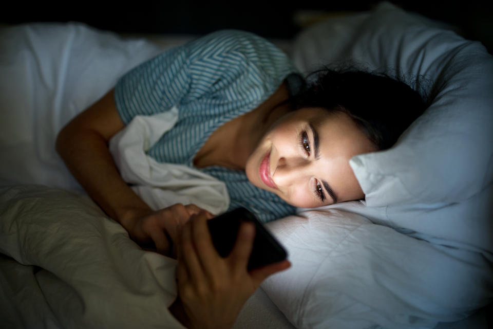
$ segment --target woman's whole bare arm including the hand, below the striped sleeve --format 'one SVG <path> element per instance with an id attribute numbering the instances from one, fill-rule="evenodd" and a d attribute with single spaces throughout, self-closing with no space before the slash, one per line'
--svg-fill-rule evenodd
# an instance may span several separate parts
<path id="1" fill-rule="evenodd" d="M 166 234 L 188 219 L 196 206 L 174 205 L 154 212 L 123 181 L 109 153 L 108 141 L 124 128 L 117 112 L 114 89 L 70 121 L 56 138 L 56 151 L 87 193 L 138 243 L 154 241 L 166 253 Z"/>

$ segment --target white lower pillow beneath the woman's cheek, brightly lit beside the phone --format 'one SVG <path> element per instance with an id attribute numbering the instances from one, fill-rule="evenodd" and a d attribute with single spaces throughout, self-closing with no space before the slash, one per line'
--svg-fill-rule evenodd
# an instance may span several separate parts
<path id="1" fill-rule="evenodd" d="M 297 328 L 431 328 L 493 296 L 482 254 L 414 239 L 355 212 L 304 211 L 267 227 L 292 267 L 261 287 Z"/>

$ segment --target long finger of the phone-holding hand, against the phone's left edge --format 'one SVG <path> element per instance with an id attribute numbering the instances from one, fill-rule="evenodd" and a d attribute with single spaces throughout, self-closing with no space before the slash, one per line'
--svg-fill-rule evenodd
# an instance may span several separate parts
<path id="1" fill-rule="evenodd" d="M 202 211 L 191 218 L 192 234 L 196 246 L 199 262 L 206 275 L 212 277 L 216 270 L 219 255 L 212 242 L 211 233 L 207 226 L 207 214 Z"/>

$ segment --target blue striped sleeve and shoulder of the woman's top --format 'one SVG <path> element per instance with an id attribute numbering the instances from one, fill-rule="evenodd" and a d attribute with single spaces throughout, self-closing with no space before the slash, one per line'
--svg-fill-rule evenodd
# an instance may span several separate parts
<path id="1" fill-rule="evenodd" d="M 209 105 L 249 104 L 295 71 L 286 53 L 255 34 L 222 30 L 169 49 L 130 70 L 115 87 L 123 122 L 207 96 Z M 238 105 L 238 104 L 236 104 Z"/>

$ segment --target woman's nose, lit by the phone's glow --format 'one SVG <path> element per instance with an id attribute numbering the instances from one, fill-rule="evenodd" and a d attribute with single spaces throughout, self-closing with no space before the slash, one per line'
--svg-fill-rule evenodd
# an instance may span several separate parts
<path id="1" fill-rule="evenodd" d="M 302 157 L 279 158 L 272 180 L 279 187 L 288 187 L 310 175 L 311 163 Z"/>

